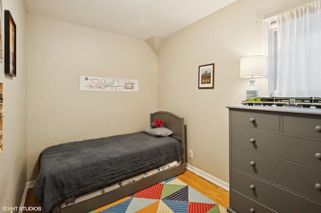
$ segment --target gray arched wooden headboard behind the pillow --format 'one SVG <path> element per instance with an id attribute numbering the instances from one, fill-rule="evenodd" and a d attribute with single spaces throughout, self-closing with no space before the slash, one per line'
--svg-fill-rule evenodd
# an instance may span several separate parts
<path id="1" fill-rule="evenodd" d="M 173 138 L 179 140 L 184 147 L 184 159 L 185 159 L 185 123 L 184 123 L 184 117 L 179 117 L 176 114 L 173 114 L 168 111 L 156 111 L 154 113 L 150 114 L 150 122 L 154 120 L 163 120 L 165 122 L 165 126 L 169 129 L 171 129 L 174 134 L 172 135 Z"/>

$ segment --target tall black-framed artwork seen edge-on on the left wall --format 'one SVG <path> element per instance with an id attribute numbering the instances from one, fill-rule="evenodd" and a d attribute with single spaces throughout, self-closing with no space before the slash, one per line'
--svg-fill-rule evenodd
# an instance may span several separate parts
<path id="1" fill-rule="evenodd" d="M 14 18 L 9 10 L 5 10 L 5 73 L 17 75 L 16 65 L 17 29 Z"/>

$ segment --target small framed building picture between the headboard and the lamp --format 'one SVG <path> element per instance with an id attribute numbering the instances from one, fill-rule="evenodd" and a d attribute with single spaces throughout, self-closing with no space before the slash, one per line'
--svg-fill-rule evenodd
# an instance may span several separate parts
<path id="1" fill-rule="evenodd" d="M 199 66 L 199 88 L 214 88 L 214 63 Z"/>

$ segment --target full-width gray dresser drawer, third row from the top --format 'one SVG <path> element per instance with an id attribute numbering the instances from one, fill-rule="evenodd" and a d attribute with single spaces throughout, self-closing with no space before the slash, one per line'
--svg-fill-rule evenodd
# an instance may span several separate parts
<path id="1" fill-rule="evenodd" d="M 291 188 L 316 200 L 321 200 L 321 191 L 315 189 L 315 184 L 321 184 L 321 172 L 311 171 L 237 148 L 232 148 L 232 167 Z"/>

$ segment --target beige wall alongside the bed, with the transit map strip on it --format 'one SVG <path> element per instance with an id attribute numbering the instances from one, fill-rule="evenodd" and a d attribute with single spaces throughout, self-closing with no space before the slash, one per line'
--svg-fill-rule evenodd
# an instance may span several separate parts
<path id="1" fill-rule="evenodd" d="M 144 40 L 29 14 L 27 22 L 28 180 L 47 146 L 149 125 L 157 56 Z M 80 91 L 80 75 L 137 79 L 139 91 Z"/>

